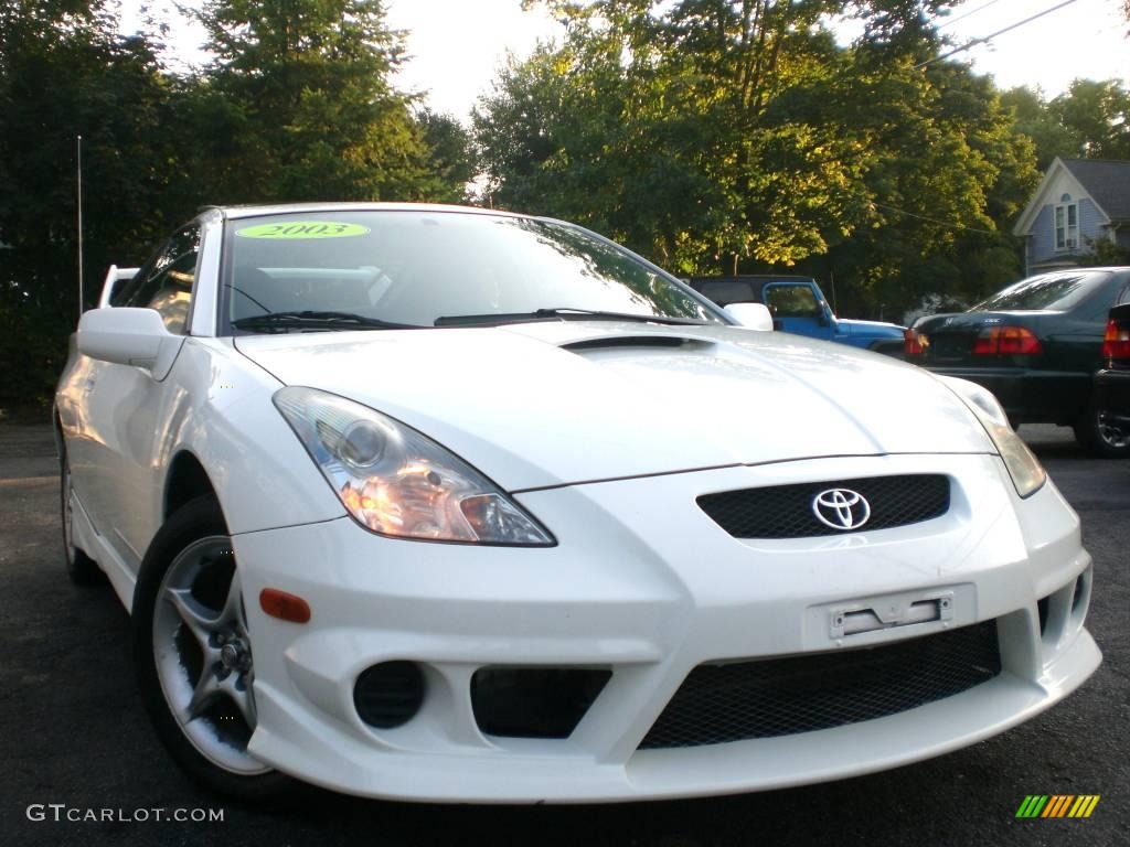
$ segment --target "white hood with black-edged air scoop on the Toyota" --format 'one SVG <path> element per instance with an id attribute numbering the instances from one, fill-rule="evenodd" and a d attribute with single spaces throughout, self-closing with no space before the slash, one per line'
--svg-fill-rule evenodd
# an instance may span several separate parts
<path id="1" fill-rule="evenodd" d="M 936 377 L 785 333 L 571 321 L 235 343 L 282 383 L 377 409 L 508 491 L 814 456 L 993 449 Z"/>

